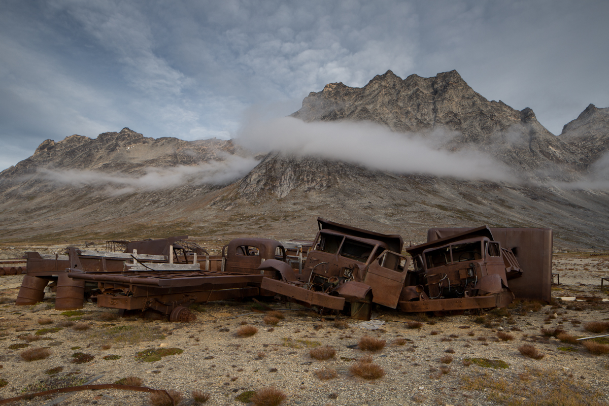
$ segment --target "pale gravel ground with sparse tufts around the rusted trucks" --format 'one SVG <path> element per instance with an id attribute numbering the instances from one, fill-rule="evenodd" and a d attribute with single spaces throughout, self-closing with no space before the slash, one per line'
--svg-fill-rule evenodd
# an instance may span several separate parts
<path id="1" fill-rule="evenodd" d="M 599 276 L 604 275 L 607 261 L 608 257 L 588 254 L 558 254 L 554 271 L 560 273 L 561 285 L 553 288 L 554 296 L 609 298 L 599 290 Z M 378 330 L 368 331 L 360 326 L 361 321 L 348 318 L 342 318 L 348 328 L 338 329 L 333 317 L 320 318 L 294 305 L 281 310 L 285 318 L 280 323 L 269 326 L 264 324 L 264 313 L 253 311 L 252 302 L 231 301 L 198 306 L 196 321 L 177 324 L 136 318 L 101 320 L 104 309 L 93 304 L 87 304 L 81 315 L 62 315 L 52 309 L 52 293 L 47 293 L 44 301 L 51 309 L 33 312 L 33 306 L 14 304 L 21 278 L 0 277 L 0 379 L 7 382 L 0 388 L 2 399 L 23 394 L 28 385 L 48 383 L 49 379 L 87 380 L 100 375 L 94 383 L 113 383 L 136 376 L 144 386 L 181 391 L 185 394 L 183 405 L 194 404 L 192 390 L 211 394 L 206 402 L 209 405 L 243 405 L 236 395 L 269 386 L 287 395 L 284 405 L 494 405 L 507 402 L 506 399 L 527 404 L 540 396 L 535 390 L 563 391 L 560 385 L 565 382 L 581 393 L 598 391 L 599 404 L 609 399 L 607 355 L 590 354 L 581 346 L 566 345 L 540 332 L 542 328 L 560 327 L 573 335 L 592 335 L 582 326 L 588 321 L 609 320 L 606 302 L 557 301 L 555 306 L 543 306 L 537 311 L 518 306 L 507 312 L 496 310 L 488 313 L 487 319 L 494 323 L 488 327 L 478 323 L 484 314 L 421 317 L 383 308 L 377 309 L 376 318 L 385 323 Z M 289 307 L 284 303 L 269 304 L 277 309 Z M 38 323 L 45 318 L 51 322 Z M 66 326 L 70 318 L 82 318 L 72 321 L 89 328 L 76 331 L 74 326 Z M 420 328 L 409 328 L 407 321 L 415 320 L 422 323 Z M 258 332 L 252 337 L 236 336 L 244 323 L 257 327 Z M 52 327 L 61 329 L 38 335 L 42 339 L 32 341 L 28 347 L 48 347 L 51 355 L 47 359 L 26 362 L 20 354 L 27 348 L 9 348 L 27 343 L 19 336 Z M 498 340 L 501 330 L 510 332 L 513 340 Z M 385 347 L 375 353 L 351 348 L 364 335 L 385 340 Z M 518 347 L 524 343 L 538 348 L 543 359 L 521 355 Z M 102 345 L 111 347 L 104 349 Z M 312 359 L 309 351 L 317 345 L 332 346 L 336 356 L 326 361 Z M 160 348 L 184 351 L 155 362 L 136 359 L 138 352 Z M 91 354 L 94 359 L 72 363 L 75 352 Z M 350 372 L 357 359 L 368 354 L 373 363 L 384 369 L 385 375 L 380 379 L 365 380 Z M 120 358 L 105 360 L 107 355 Z M 445 356 L 452 356 L 452 362 L 440 362 Z M 484 368 L 476 363 L 466 366 L 463 360 L 471 358 L 501 360 L 509 367 Z M 54 376 L 45 373 L 60 366 L 63 370 Z M 441 367 L 450 369 L 445 368 L 443 373 Z M 322 368 L 335 369 L 337 377 L 318 379 L 315 371 Z M 502 383 L 507 387 L 502 387 Z M 510 383 L 520 385 L 510 387 Z M 36 398 L 16 404 L 48 402 Z M 130 391 L 83 391 L 61 404 L 148 405 L 149 397 Z"/>

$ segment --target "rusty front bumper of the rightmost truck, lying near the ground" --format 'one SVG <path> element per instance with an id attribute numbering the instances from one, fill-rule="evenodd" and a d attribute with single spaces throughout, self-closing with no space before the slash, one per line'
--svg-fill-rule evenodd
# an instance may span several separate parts
<path id="1" fill-rule="evenodd" d="M 449 310 L 491 309 L 512 303 L 512 292 L 501 292 L 496 295 L 474 296 L 473 298 L 431 299 L 414 302 L 400 301 L 403 312 L 440 312 Z"/>

